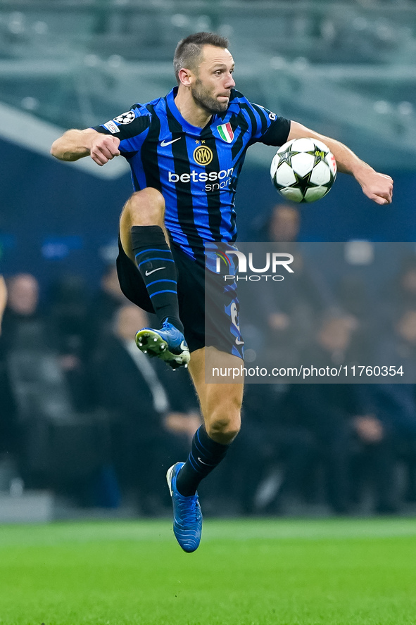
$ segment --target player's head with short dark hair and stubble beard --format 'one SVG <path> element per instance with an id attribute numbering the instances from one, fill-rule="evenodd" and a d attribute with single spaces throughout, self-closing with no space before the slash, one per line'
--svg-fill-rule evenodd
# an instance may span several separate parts
<path id="1" fill-rule="evenodd" d="M 189 90 L 194 102 L 209 113 L 227 111 L 235 83 L 234 61 L 225 37 L 196 32 L 177 44 L 173 66 L 179 87 Z"/>

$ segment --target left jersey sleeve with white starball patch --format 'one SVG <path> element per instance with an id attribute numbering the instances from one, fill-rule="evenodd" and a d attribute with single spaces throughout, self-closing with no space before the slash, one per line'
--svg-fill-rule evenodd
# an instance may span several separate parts
<path id="1" fill-rule="evenodd" d="M 145 106 L 134 104 L 130 111 L 118 115 L 105 124 L 92 126 L 93 130 L 103 134 L 113 134 L 120 139 L 120 152 L 134 151 L 136 137 L 144 133 L 151 124 L 151 114 Z"/>

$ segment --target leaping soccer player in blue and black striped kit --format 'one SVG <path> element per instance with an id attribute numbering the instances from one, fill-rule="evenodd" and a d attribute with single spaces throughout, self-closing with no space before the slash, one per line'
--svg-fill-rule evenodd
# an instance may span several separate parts
<path id="1" fill-rule="evenodd" d="M 175 536 L 187 552 L 201 538 L 198 484 L 225 457 L 240 428 L 242 382 L 205 381 L 206 355 L 239 367 L 244 341 L 232 287 L 213 296 L 222 322 L 205 332 L 204 244 L 229 249 L 236 239 L 234 195 L 246 149 L 256 141 L 281 146 L 313 137 L 329 146 L 338 170 L 353 175 L 376 203 L 391 202 L 393 184 L 339 141 L 250 103 L 234 89 L 227 48 L 218 34 L 191 34 L 177 45 L 177 87 L 167 96 L 134 104 L 94 128 L 68 130 L 51 148 L 60 160 L 91 156 L 105 165 L 121 154 L 130 163 L 134 194 L 120 217 L 118 276 L 127 298 L 156 313 L 161 325 L 137 332 L 137 346 L 172 367 L 189 362 L 204 419 L 187 461 L 170 467 L 167 476 Z"/>

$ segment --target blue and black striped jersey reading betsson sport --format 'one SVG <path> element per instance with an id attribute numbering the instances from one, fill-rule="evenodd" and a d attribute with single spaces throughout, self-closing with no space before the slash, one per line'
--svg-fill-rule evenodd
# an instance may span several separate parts
<path id="1" fill-rule="evenodd" d="M 195 258 L 207 241 L 235 241 L 234 196 L 246 149 L 256 141 L 281 146 L 290 122 L 232 89 L 227 111 L 199 128 L 179 113 L 176 93 L 134 104 L 94 130 L 120 139 L 134 189 L 163 194 L 170 237 Z"/>

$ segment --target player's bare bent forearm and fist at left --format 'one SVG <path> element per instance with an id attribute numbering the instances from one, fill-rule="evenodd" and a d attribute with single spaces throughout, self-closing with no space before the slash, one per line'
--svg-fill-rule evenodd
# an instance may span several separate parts
<path id="1" fill-rule="evenodd" d="M 105 165 L 115 156 L 120 156 L 120 139 L 101 134 L 92 128 L 67 130 L 62 137 L 53 141 L 51 154 L 58 160 L 78 160 L 91 156 L 97 165 Z"/>

